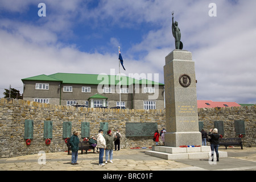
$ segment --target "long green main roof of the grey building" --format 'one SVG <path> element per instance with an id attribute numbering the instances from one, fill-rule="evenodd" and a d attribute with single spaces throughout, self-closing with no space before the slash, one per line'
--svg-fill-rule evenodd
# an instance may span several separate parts
<path id="1" fill-rule="evenodd" d="M 62 81 L 63 84 L 86 84 L 86 85 L 119 85 L 118 75 L 94 75 L 94 74 L 79 74 L 79 73 L 55 73 L 52 75 L 39 75 L 23 80 L 38 80 L 38 81 Z M 121 85 L 131 84 L 151 84 L 164 85 L 159 82 L 150 81 L 146 79 L 137 80 L 135 78 L 121 76 Z"/>

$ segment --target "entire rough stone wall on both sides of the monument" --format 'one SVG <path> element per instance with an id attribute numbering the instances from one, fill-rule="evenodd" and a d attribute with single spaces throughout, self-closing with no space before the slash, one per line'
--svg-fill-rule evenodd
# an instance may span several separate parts
<path id="1" fill-rule="evenodd" d="M 198 109 L 199 121 L 204 122 L 204 129 L 209 131 L 214 121 L 224 121 L 226 138 L 237 137 L 234 121 L 245 121 L 245 146 L 256 144 L 256 107 L 226 107 L 216 109 Z M 34 138 L 30 146 L 24 139 L 26 119 L 34 121 Z M 44 139 L 44 121 L 52 121 L 51 144 Z M 72 131 L 81 133 L 81 122 L 90 122 L 90 136 L 97 135 L 101 122 L 108 122 L 112 131 L 119 129 L 122 134 L 121 148 L 151 147 L 155 144 L 152 137 L 126 137 L 126 122 L 157 122 L 158 130 L 165 127 L 165 110 L 119 110 L 72 107 L 41 104 L 38 102 L 4 99 L 0 100 L 0 157 L 8 158 L 20 155 L 37 154 L 39 151 L 66 151 L 63 138 L 63 122 L 72 122 Z M 80 135 L 80 139 L 81 135 Z M 162 141 L 159 141 L 162 144 Z"/>

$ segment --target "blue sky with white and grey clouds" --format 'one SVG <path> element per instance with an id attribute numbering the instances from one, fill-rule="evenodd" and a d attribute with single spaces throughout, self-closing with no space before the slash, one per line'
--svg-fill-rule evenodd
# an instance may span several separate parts
<path id="1" fill-rule="evenodd" d="M 117 75 L 118 47 L 122 75 L 164 84 L 174 11 L 195 61 L 197 100 L 256 104 L 255 7 L 255 0 L 1 0 L 0 97 L 9 85 L 23 93 L 21 79 L 42 74 Z"/>

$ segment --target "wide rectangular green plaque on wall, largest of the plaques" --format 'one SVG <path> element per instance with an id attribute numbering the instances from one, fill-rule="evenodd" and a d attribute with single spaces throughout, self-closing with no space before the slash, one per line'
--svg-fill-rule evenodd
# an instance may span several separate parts
<path id="1" fill-rule="evenodd" d="M 126 123 L 126 137 L 154 136 L 158 123 Z"/>

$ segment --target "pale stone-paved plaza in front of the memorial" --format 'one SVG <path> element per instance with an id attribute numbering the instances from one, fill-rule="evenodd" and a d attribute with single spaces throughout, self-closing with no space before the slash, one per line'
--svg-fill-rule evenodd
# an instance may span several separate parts
<path id="1" fill-rule="evenodd" d="M 79 156 L 77 165 L 71 165 L 71 155 L 67 152 L 45 154 L 46 163 L 42 164 L 43 155 L 26 155 L 0 159 L 0 171 L 256 171 L 256 147 L 225 148 L 228 158 L 220 162 L 209 162 L 208 159 L 165 160 L 146 155 L 150 148 L 127 148 L 114 151 L 113 162 L 98 166 L 98 154 L 88 151 Z M 105 162 L 105 154 L 104 154 Z M 41 163 L 41 164 L 40 164 Z"/>

